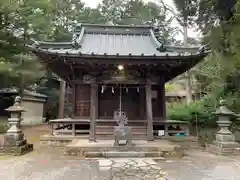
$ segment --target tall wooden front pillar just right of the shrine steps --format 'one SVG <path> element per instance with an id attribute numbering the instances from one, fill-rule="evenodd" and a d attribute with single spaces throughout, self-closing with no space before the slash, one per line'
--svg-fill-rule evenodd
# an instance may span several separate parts
<path id="1" fill-rule="evenodd" d="M 147 112 L 147 140 L 153 141 L 153 115 L 152 115 L 152 86 L 151 80 L 147 78 L 146 82 L 146 112 Z"/>

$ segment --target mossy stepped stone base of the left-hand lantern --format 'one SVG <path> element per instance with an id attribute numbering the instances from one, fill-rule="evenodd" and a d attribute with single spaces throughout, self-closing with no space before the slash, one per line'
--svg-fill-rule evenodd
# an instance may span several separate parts
<path id="1" fill-rule="evenodd" d="M 22 134 L 23 135 L 23 134 Z M 16 139 L 15 135 L 6 134 L 4 144 L 0 147 L 0 155 L 20 156 L 33 150 L 33 144 L 28 144 L 27 140 L 20 136 Z"/>

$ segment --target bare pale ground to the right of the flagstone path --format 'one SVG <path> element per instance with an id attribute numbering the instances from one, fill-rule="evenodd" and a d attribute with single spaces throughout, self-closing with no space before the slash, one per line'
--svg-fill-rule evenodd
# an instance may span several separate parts
<path id="1" fill-rule="evenodd" d="M 240 180 L 240 157 L 217 156 L 204 151 L 189 151 L 179 160 L 158 163 L 171 180 Z"/>

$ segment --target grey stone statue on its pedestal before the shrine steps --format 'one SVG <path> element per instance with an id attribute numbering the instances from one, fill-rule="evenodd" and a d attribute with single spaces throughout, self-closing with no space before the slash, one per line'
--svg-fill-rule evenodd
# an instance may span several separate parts
<path id="1" fill-rule="evenodd" d="M 127 116 L 124 112 L 116 111 L 114 118 L 117 121 L 118 126 L 114 127 L 114 146 L 119 146 L 120 140 L 125 140 L 128 146 L 132 145 L 132 128 L 125 126 L 128 122 Z"/>

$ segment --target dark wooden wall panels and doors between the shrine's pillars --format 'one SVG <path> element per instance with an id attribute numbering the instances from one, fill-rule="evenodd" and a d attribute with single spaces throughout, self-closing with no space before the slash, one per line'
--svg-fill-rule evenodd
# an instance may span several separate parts
<path id="1" fill-rule="evenodd" d="M 136 85 L 134 85 L 136 87 Z M 145 88 L 132 88 L 128 85 L 122 89 L 122 110 L 127 113 L 130 120 L 146 119 L 146 94 Z M 110 86 L 101 92 L 101 86 L 98 87 L 98 117 L 99 119 L 112 119 L 115 110 L 119 109 L 119 88 L 114 88 L 114 93 Z M 164 88 L 160 85 L 154 85 L 152 90 L 155 91 L 152 98 L 153 118 L 165 119 Z M 90 85 L 77 84 L 75 89 L 75 117 L 90 118 Z"/>

